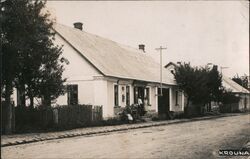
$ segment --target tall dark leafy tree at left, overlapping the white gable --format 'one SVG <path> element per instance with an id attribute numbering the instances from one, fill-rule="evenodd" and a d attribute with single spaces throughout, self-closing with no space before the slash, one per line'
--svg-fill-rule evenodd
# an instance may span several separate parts
<path id="1" fill-rule="evenodd" d="M 53 21 L 48 13 L 41 12 L 45 3 L 41 0 L 1 1 L 1 86 L 8 107 L 6 133 L 11 132 L 10 96 L 14 87 L 24 89 L 31 107 L 34 97 L 51 100 L 64 90 L 65 59 L 61 57 L 62 48 L 53 43 Z"/>

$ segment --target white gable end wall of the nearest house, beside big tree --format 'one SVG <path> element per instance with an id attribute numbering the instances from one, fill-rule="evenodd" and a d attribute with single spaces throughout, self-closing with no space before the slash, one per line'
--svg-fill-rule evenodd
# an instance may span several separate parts
<path id="1" fill-rule="evenodd" d="M 63 72 L 63 78 L 67 78 L 65 84 L 78 85 L 79 104 L 94 104 L 94 76 L 101 76 L 101 74 L 57 34 L 55 43 L 59 46 L 63 45 L 62 56 L 69 61 Z M 56 104 L 67 105 L 67 93 L 60 96 L 56 100 Z"/>

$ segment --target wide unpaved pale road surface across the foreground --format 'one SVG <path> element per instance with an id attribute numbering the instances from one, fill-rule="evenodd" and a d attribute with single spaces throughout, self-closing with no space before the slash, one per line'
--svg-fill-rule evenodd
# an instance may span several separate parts
<path id="1" fill-rule="evenodd" d="M 250 138 L 249 115 L 3 147 L 2 158 L 219 158 Z"/>

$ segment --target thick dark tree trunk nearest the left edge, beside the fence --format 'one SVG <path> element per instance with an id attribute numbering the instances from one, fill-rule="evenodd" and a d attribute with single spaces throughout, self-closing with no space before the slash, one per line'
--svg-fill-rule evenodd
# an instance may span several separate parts
<path id="1" fill-rule="evenodd" d="M 5 90 L 5 101 L 6 101 L 6 123 L 5 123 L 5 134 L 12 133 L 12 105 L 10 101 L 11 96 L 11 84 L 6 84 Z"/>

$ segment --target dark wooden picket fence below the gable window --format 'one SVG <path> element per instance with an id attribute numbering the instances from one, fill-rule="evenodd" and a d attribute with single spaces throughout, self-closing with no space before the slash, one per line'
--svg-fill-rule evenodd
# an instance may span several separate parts
<path id="1" fill-rule="evenodd" d="M 92 105 L 65 105 L 49 109 L 16 107 L 16 128 L 76 128 L 102 121 L 102 107 Z"/>

